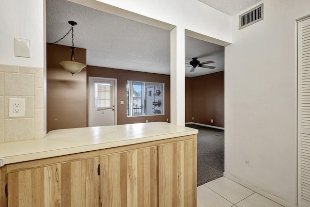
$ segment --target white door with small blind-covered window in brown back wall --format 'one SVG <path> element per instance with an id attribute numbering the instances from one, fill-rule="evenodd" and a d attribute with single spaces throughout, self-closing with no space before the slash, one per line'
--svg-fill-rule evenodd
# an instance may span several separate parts
<path id="1" fill-rule="evenodd" d="M 116 79 L 89 77 L 88 126 L 116 125 Z"/>

